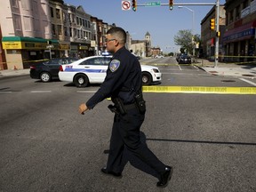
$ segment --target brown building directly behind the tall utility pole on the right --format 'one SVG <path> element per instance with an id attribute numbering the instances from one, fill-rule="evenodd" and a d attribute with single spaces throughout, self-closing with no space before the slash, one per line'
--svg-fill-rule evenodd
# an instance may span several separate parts
<path id="1" fill-rule="evenodd" d="M 215 55 L 215 37 L 216 31 L 210 28 L 210 23 L 212 19 L 216 18 L 216 6 L 213 6 L 210 12 L 206 14 L 204 19 L 201 21 L 201 40 L 202 40 L 202 51 L 200 57 L 211 58 Z M 219 17 L 219 27 L 220 27 L 220 38 L 219 38 L 219 54 L 224 53 L 222 45 L 222 36 L 225 32 L 225 22 L 226 22 L 226 12 L 224 5 L 220 4 L 220 17 Z M 216 28 L 216 27 L 215 27 Z M 220 59 L 221 60 L 221 59 Z"/>

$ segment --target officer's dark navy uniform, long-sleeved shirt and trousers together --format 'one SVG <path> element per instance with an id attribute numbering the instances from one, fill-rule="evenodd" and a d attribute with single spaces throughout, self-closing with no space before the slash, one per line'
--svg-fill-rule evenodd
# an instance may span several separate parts
<path id="1" fill-rule="evenodd" d="M 147 145 L 140 142 L 140 126 L 145 114 L 141 114 L 134 104 L 134 95 L 141 92 L 140 62 L 125 47 L 119 49 L 108 65 L 107 76 L 100 89 L 86 106 L 89 109 L 101 100 L 108 97 L 120 98 L 125 106 L 129 106 L 125 115 L 116 114 L 112 128 L 110 148 L 108 155 L 108 172 L 122 172 L 127 163 L 123 158 L 124 148 L 148 164 L 161 174 L 165 165 L 148 149 Z M 131 107 L 133 105 L 133 107 Z"/>

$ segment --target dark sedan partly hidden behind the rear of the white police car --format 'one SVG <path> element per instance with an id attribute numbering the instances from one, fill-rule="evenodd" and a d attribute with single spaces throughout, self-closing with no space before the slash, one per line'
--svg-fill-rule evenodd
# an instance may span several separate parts
<path id="1" fill-rule="evenodd" d="M 30 77 L 49 82 L 53 78 L 59 78 L 60 65 L 70 64 L 75 58 L 54 58 L 42 63 L 36 63 L 30 67 Z"/>

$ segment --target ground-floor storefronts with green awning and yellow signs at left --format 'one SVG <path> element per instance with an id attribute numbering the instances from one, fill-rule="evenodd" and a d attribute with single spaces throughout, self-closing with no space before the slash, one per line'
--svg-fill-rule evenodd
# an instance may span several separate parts
<path id="1" fill-rule="evenodd" d="M 24 36 L 4 36 L 2 39 L 7 68 L 29 68 L 36 62 L 57 58 L 69 50 L 68 43 L 56 39 L 43 39 Z M 50 56 L 51 52 L 51 56 Z"/>

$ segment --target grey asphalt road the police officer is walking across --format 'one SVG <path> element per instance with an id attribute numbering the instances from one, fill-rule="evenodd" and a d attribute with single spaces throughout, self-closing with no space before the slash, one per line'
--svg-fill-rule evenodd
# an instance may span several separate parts
<path id="1" fill-rule="evenodd" d="M 159 85 L 252 86 L 174 65 L 173 58 L 141 63 L 158 65 Z M 154 172 L 129 154 L 121 180 L 100 173 L 114 116 L 107 108 L 110 101 L 78 114 L 79 104 L 97 89 L 99 84 L 78 89 L 29 76 L 0 80 L 1 192 L 159 190 Z M 148 110 L 141 140 L 174 167 L 169 186 L 161 191 L 256 191 L 254 95 L 156 92 L 144 97 Z"/>

